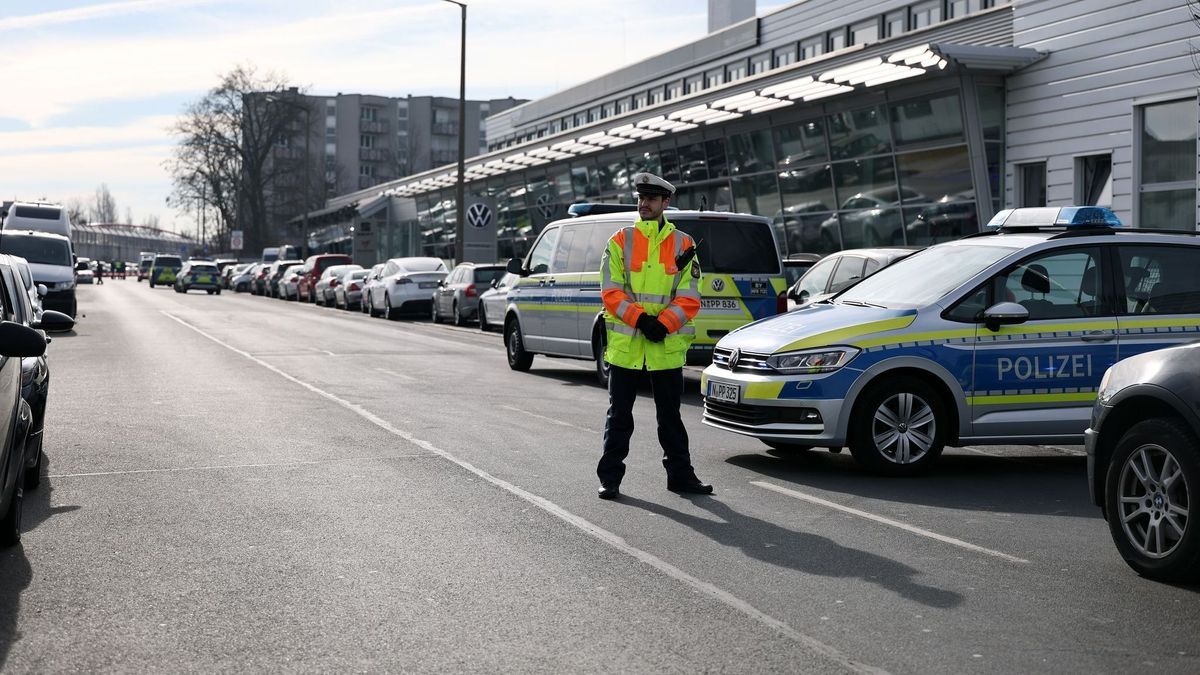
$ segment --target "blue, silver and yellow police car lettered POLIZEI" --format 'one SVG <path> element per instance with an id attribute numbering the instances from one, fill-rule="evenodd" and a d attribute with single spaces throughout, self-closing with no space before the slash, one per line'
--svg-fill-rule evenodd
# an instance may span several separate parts
<path id="1" fill-rule="evenodd" d="M 1195 232 L 1108 209 L 1008 209 L 830 300 L 732 331 L 704 424 L 788 448 L 848 446 L 880 472 L 944 446 L 1082 443 L 1104 371 L 1200 338 Z"/>

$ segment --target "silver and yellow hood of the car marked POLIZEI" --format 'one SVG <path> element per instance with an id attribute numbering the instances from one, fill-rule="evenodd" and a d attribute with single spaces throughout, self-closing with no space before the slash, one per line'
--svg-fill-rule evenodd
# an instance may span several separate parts
<path id="1" fill-rule="evenodd" d="M 882 333 L 904 330 L 916 318 L 917 310 L 822 303 L 746 324 L 721 338 L 716 346 L 774 354 L 830 345 L 854 345 Z"/>

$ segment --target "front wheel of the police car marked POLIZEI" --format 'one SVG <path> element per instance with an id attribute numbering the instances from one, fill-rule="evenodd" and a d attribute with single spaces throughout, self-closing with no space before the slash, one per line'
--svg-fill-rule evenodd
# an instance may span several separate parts
<path id="1" fill-rule="evenodd" d="M 937 392 L 920 380 L 896 377 L 869 389 L 854 406 L 850 452 L 872 471 L 911 476 L 942 454 L 946 426 Z"/>

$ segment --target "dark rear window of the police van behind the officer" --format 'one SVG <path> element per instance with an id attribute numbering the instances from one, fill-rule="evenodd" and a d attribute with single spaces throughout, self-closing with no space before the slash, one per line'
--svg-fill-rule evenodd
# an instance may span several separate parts
<path id="1" fill-rule="evenodd" d="M 667 214 L 670 219 L 670 214 Z M 770 226 L 744 220 L 679 220 L 674 226 L 686 232 L 700 247 L 700 269 L 704 274 L 781 274 L 779 251 Z"/>

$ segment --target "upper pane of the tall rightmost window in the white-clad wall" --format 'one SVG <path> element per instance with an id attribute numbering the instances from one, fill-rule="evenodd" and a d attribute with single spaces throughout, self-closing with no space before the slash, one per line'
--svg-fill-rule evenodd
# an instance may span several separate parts
<path id="1" fill-rule="evenodd" d="M 1172 183 L 1196 178 L 1196 100 L 1142 108 L 1141 180 Z"/>

